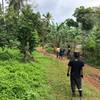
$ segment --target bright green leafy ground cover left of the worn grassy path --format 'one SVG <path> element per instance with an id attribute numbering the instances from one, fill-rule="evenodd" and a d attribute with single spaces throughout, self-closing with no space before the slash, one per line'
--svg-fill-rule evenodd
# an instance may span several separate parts
<path id="1" fill-rule="evenodd" d="M 44 100 L 50 97 L 44 70 L 46 57 L 34 52 L 37 62 L 23 63 L 17 50 L 0 51 L 0 54 L 0 100 Z"/>

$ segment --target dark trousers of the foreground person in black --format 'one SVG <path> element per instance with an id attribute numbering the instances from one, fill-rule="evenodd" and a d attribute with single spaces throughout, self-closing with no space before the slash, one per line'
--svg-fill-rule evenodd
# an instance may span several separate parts
<path id="1" fill-rule="evenodd" d="M 72 94 L 75 93 L 75 87 L 77 86 L 79 94 L 81 96 L 82 95 L 82 79 L 81 79 L 81 77 L 71 76 L 70 82 L 71 82 Z"/>

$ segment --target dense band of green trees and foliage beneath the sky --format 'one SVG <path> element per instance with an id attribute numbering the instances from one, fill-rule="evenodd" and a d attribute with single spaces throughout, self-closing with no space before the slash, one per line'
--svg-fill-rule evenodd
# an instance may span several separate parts
<path id="1" fill-rule="evenodd" d="M 4 10 L 5 9 L 5 10 Z M 34 12 L 27 0 L 8 0 L 0 4 L 0 47 L 18 48 L 26 61 L 37 45 L 53 48 L 71 45 L 74 51 L 82 45 L 83 55 L 87 59 L 98 59 L 100 43 L 100 7 L 80 6 L 73 12 L 72 18 L 62 23 L 54 23 L 52 15 Z M 47 49 L 49 50 L 49 49 Z M 32 57 L 31 57 L 32 58 Z M 93 59 L 93 60 L 94 60 Z"/>

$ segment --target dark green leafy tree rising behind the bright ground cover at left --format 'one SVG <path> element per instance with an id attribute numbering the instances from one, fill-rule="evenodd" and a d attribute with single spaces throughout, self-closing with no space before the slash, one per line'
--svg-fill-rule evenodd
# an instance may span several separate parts
<path id="1" fill-rule="evenodd" d="M 37 13 L 34 13 L 30 6 L 26 6 L 22 9 L 22 14 L 19 17 L 17 38 L 20 42 L 20 51 L 24 54 L 24 60 L 27 59 L 29 53 L 32 53 L 38 41 L 36 22 L 39 19 L 37 16 Z"/>

